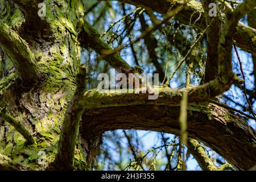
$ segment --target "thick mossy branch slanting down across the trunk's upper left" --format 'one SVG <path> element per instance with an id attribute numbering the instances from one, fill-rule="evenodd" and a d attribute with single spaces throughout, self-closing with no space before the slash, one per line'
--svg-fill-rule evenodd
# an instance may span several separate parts
<path id="1" fill-rule="evenodd" d="M 39 80 L 42 73 L 28 44 L 2 21 L 0 21 L 0 46 L 13 61 L 24 84 L 31 84 Z"/>

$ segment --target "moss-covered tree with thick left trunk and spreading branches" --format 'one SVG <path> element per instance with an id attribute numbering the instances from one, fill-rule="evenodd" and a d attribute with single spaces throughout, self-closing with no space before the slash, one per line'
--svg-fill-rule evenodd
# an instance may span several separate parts
<path id="1" fill-rule="evenodd" d="M 90 170 L 103 134 L 117 129 L 137 162 L 125 130 L 159 131 L 163 141 L 163 133 L 186 141 L 187 132 L 187 143 L 174 143 L 180 166 L 183 144 L 205 170 L 255 166 L 255 89 L 246 88 L 242 65 L 242 76 L 234 73 L 232 48 L 255 66 L 256 2 L 218 1 L 211 16 L 215 2 L 0 0 L 0 169 Z M 246 14 L 249 26 L 240 22 Z M 111 18 L 119 20 L 104 23 Z M 98 73 L 131 65 L 159 73 L 157 100 L 95 89 Z M 184 88 L 172 89 L 173 80 Z M 242 104 L 230 104 L 232 86 L 245 93 Z M 229 164 L 217 167 L 200 142 Z"/>

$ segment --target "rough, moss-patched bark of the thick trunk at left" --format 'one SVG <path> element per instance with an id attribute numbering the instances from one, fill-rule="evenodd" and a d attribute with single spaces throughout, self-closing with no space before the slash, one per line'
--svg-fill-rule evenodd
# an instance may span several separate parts
<path id="1" fill-rule="evenodd" d="M 1 51 L 1 69 L 5 73 L 0 81 L 0 109 L 5 107 L 9 118 L 17 124 L 12 127 L 1 120 L 0 154 L 9 157 L 13 164 L 24 164 L 23 169 L 46 169 L 55 159 L 65 111 L 76 89 L 80 65 L 77 32 L 82 28 L 84 9 L 81 1 L 44 2 L 47 16 L 40 18 L 38 1 L 15 2 L 18 6 L 11 1 L 0 1 L 4 5 L 1 6 L 0 18 L 5 22 L 0 29 L 10 33 L 0 36 L 4 50 Z M 26 23 L 21 12 L 27 19 Z M 40 68 L 44 75 L 43 80 L 36 80 L 34 85 L 27 79 L 33 74 L 39 76 L 36 69 L 32 69 L 33 64 L 38 65 L 36 68 Z M 25 143 L 21 134 L 28 133 L 17 126 L 25 127 L 36 144 Z M 76 144 L 75 169 L 88 169 L 81 140 L 73 142 Z M 38 163 L 40 151 L 46 152 L 45 164 Z M 3 161 L 2 168 L 9 164 Z"/>

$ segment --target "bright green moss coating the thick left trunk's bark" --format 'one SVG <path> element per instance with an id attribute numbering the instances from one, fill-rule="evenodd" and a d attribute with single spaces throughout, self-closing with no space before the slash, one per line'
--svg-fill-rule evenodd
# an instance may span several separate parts
<path id="1" fill-rule="evenodd" d="M 49 23 L 51 36 L 55 38 L 54 43 L 48 47 L 49 49 L 34 50 L 36 61 L 46 75 L 39 88 L 30 90 L 32 94 L 36 93 L 39 101 L 35 104 L 33 98 L 30 98 L 29 104 L 26 105 L 26 113 L 18 113 L 20 120 L 24 118 L 24 121 L 27 121 L 27 114 L 32 117 L 30 122 L 35 126 L 37 145 L 28 146 L 24 138 L 9 126 L 6 133 L 7 142 L 0 142 L 1 154 L 11 155 L 14 162 L 26 164 L 32 169 L 42 168 L 38 164 L 38 152 L 41 150 L 46 151 L 47 163 L 55 159 L 60 127 L 68 102 L 76 89 L 76 74 L 80 65 L 77 30 L 83 27 L 82 3 L 76 0 L 52 2 L 44 1 L 47 6 L 46 21 Z M 10 18 L 9 7 L 0 5 L 0 17 Z M 18 26 L 23 20 L 21 17 L 20 11 L 15 10 L 13 18 L 10 18 L 11 26 Z M 13 68 L 11 60 L 6 59 L 6 64 L 7 67 L 3 69 Z M 17 77 L 16 73 L 12 73 L 0 80 L 0 94 L 5 92 Z M 25 96 L 23 99 L 24 102 L 27 101 Z M 31 127 L 30 124 L 29 126 Z M 89 169 L 80 150 L 76 151 L 75 159 L 76 169 Z"/>

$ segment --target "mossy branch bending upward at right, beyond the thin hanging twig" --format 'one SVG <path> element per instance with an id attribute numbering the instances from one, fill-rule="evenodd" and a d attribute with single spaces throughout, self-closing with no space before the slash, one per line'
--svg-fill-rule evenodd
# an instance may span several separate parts
<path id="1" fill-rule="evenodd" d="M 250 7 L 247 6 L 247 3 L 249 3 Z M 242 82 L 232 71 L 233 35 L 236 32 L 238 20 L 254 6 L 256 6 L 255 1 L 245 1 L 229 15 L 221 32 L 220 42 L 218 44 L 218 76 L 213 81 L 189 90 L 190 101 L 204 101 L 208 97 L 218 96 L 227 91 L 233 82 Z"/>

